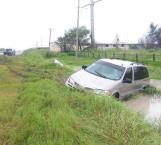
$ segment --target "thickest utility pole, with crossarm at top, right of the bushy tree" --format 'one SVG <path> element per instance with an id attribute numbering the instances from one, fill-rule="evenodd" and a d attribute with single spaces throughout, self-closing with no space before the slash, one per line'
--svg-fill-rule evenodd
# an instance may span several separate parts
<path id="1" fill-rule="evenodd" d="M 87 7 L 90 5 L 90 16 L 91 16 L 91 48 L 95 47 L 95 33 L 94 33 L 94 5 L 97 2 L 102 0 L 93 1 L 90 0 L 90 4 L 82 6 L 82 8 Z"/>

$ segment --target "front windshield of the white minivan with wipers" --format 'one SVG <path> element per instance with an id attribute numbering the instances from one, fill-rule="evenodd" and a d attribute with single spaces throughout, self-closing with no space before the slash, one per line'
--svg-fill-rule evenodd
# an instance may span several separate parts
<path id="1" fill-rule="evenodd" d="M 120 80 L 125 71 L 125 68 L 99 60 L 87 67 L 85 71 L 105 79 Z"/>

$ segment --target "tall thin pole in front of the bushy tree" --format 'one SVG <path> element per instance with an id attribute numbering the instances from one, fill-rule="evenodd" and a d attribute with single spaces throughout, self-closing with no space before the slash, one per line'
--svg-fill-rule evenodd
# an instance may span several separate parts
<path id="1" fill-rule="evenodd" d="M 80 0 L 78 0 L 78 9 L 77 9 L 77 32 L 76 32 L 76 57 L 77 51 L 79 50 L 79 10 L 80 10 Z"/>

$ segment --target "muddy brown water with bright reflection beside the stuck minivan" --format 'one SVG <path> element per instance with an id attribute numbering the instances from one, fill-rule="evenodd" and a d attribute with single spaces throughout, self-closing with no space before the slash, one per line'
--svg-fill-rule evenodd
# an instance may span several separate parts
<path id="1" fill-rule="evenodd" d="M 161 96 L 139 94 L 124 103 L 133 111 L 142 113 L 147 121 L 159 122 L 161 119 Z"/>

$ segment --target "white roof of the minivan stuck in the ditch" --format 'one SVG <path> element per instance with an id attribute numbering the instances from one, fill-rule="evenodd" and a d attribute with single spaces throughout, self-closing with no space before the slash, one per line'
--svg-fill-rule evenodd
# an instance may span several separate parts
<path id="1" fill-rule="evenodd" d="M 127 60 L 121 60 L 121 59 L 100 59 L 100 60 L 115 64 L 118 66 L 122 66 L 122 67 L 144 66 L 143 64 L 139 64 L 139 63 L 127 61 Z"/>

